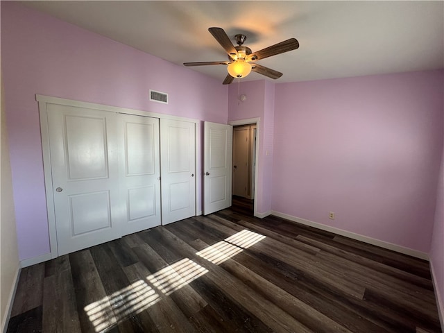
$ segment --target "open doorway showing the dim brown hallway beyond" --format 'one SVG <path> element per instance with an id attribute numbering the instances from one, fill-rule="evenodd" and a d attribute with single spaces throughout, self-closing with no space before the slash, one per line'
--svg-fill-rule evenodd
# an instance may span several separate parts
<path id="1" fill-rule="evenodd" d="M 233 126 L 232 210 L 254 215 L 256 123 Z"/>

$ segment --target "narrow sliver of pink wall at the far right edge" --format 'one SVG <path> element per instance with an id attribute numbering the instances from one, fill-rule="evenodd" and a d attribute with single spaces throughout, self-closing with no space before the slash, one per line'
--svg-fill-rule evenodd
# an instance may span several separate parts
<path id="1" fill-rule="evenodd" d="M 441 157 L 432 246 L 430 247 L 429 255 L 430 266 L 432 266 L 434 273 L 435 289 L 438 295 L 438 305 L 441 309 L 441 326 L 444 327 L 444 149 Z"/>

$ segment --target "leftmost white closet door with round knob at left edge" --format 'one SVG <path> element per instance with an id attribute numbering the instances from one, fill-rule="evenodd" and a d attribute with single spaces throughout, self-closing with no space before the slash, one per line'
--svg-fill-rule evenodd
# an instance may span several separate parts
<path id="1" fill-rule="evenodd" d="M 119 238 L 117 114 L 47 110 L 58 255 Z"/>

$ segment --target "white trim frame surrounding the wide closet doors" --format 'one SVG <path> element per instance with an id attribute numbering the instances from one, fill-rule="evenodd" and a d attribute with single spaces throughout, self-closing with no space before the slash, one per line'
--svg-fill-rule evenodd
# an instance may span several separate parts
<path id="1" fill-rule="evenodd" d="M 134 110 L 128 108 L 119 108 L 116 106 L 103 105 L 97 103 L 89 103 L 84 101 L 74 101 L 71 99 L 61 99 L 59 97 L 53 96 L 45 96 L 36 94 L 35 100 L 38 102 L 39 107 L 39 117 L 40 117 L 40 135 L 42 137 L 42 156 L 43 156 L 43 171 L 44 171 L 44 186 L 45 186 L 45 195 L 46 195 L 46 212 L 48 214 L 48 229 L 49 229 L 49 249 L 51 254 L 51 259 L 58 257 L 58 245 L 57 245 L 57 228 L 56 228 L 56 214 L 55 214 L 55 205 L 54 205 L 54 197 L 53 197 L 53 181 L 52 181 L 52 170 L 51 170 L 51 153 L 49 151 L 49 124 L 48 124 L 48 112 L 47 112 L 47 104 L 57 104 L 57 105 L 68 105 L 76 108 L 88 108 L 94 110 L 108 111 L 114 113 L 122 113 L 122 114 L 133 114 L 136 116 L 142 117 L 153 117 L 158 119 L 171 119 L 178 121 L 188 121 L 190 123 L 194 123 L 196 130 L 196 141 L 195 145 L 195 159 L 196 159 L 196 175 L 199 174 L 202 169 L 202 165 L 200 163 L 200 120 L 191 119 L 185 117 L 172 116 L 169 114 L 160 114 L 155 112 Z M 201 191 L 198 189 L 201 188 L 201 180 L 196 177 L 194 179 L 194 186 L 196 187 L 195 194 L 195 214 L 200 215 L 201 210 L 199 210 L 198 203 L 198 194 Z"/>

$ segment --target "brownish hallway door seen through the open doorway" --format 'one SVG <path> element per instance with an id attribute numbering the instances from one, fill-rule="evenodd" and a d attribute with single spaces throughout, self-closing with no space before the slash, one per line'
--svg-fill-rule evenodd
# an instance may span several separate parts
<path id="1" fill-rule="evenodd" d="M 248 158 L 250 128 L 234 128 L 233 135 L 233 194 L 248 197 Z"/>

